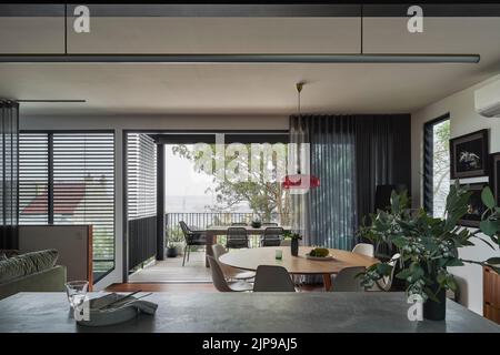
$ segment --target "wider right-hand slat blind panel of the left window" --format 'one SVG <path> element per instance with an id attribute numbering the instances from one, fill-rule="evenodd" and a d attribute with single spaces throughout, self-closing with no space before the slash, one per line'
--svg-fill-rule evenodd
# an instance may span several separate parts
<path id="1" fill-rule="evenodd" d="M 114 135 L 53 133 L 54 224 L 92 224 L 94 272 L 114 260 Z"/>

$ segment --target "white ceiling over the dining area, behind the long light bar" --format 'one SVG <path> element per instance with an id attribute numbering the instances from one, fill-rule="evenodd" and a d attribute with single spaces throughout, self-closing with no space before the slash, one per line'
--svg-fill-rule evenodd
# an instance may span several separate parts
<path id="1" fill-rule="evenodd" d="M 373 23 L 373 28 L 389 33 L 384 23 Z M 294 83 L 306 81 L 302 112 L 413 112 L 500 73 L 500 18 L 474 19 L 473 31 L 471 26 L 460 28 L 453 23 L 453 31 L 447 36 L 439 32 L 429 40 L 419 38 L 419 51 L 443 48 L 442 53 L 478 53 L 480 63 L 0 63 L 0 97 L 87 100 L 71 104 L 23 103 L 23 114 L 288 115 L 297 110 Z M 394 52 L 399 42 L 399 48 L 411 52 L 408 34 L 393 40 L 387 40 L 387 36 L 371 38 L 370 50 L 379 48 L 383 52 L 386 44 L 390 45 L 387 51 Z M 261 40 L 266 43 L 264 38 Z"/>

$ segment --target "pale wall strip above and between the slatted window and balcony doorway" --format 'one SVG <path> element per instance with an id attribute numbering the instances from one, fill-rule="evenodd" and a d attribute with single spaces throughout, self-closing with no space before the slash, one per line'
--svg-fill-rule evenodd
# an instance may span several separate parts
<path id="1" fill-rule="evenodd" d="M 286 115 L 34 116 L 20 110 L 21 130 L 114 130 L 116 267 L 96 284 L 102 290 L 122 282 L 123 130 L 288 130 Z"/>

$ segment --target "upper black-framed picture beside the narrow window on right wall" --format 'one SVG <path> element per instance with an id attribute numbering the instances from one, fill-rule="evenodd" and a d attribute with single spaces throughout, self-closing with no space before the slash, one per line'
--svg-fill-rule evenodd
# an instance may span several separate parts
<path id="1" fill-rule="evenodd" d="M 488 175 L 488 130 L 469 133 L 450 140 L 450 178 Z"/>

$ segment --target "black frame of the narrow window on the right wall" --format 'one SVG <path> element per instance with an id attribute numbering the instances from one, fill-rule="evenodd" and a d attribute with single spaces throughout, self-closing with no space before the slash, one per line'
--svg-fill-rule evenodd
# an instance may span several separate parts
<path id="1" fill-rule="evenodd" d="M 423 124 L 423 209 L 429 215 L 433 214 L 434 186 L 433 186 L 433 163 L 434 163 L 434 125 L 450 120 L 450 112 L 447 112 Z"/>

